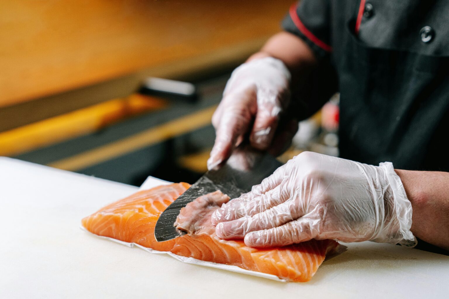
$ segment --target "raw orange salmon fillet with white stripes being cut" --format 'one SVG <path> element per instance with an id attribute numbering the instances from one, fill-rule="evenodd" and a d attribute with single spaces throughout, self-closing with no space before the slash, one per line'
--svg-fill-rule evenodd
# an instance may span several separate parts
<path id="1" fill-rule="evenodd" d="M 255 249 L 245 246 L 240 240 L 226 241 L 215 235 L 211 224 L 211 213 L 218 204 L 211 204 L 211 198 L 203 196 L 191 207 L 199 205 L 194 217 L 189 210 L 181 211 L 177 227 L 189 234 L 165 242 L 154 238 L 154 226 L 160 214 L 179 195 L 190 187 L 187 183 L 158 186 L 137 192 L 125 199 L 101 208 L 85 217 L 82 225 L 100 236 L 137 243 L 158 251 L 171 251 L 179 256 L 193 257 L 220 264 L 235 265 L 242 269 L 269 273 L 291 282 L 309 281 L 330 251 L 339 243 L 332 240 L 312 240 L 286 247 Z M 221 202 L 229 197 L 221 192 L 215 194 Z M 183 209 L 184 210 L 184 209 Z M 187 221 L 191 219 L 191 221 Z"/>

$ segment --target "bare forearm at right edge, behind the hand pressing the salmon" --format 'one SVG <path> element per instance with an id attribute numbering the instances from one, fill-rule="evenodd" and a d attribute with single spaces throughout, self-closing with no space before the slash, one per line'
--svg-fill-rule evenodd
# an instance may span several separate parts
<path id="1" fill-rule="evenodd" d="M 449 250 L 449 173 L 396 169 L 412 204 L 412 233 Z"/>

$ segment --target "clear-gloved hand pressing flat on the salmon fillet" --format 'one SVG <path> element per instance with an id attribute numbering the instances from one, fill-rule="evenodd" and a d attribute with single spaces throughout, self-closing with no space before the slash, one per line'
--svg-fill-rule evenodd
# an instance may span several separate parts
<path id="1" fill-rule="evenodd" d="M 314 239 L 416 245 L 412 207 L 390 162 L 303 152 L 212 214 L 216 234 L 272 247 Z"/>

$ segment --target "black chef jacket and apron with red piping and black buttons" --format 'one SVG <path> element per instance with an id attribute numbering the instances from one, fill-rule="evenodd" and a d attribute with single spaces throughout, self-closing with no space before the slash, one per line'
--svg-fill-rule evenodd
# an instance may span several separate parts
<path id="1" fill-rule="evenodd" d="M 342 158 L 449 171 L 449 0 L 302 0 L 283 27 L 335 69 Z"/>

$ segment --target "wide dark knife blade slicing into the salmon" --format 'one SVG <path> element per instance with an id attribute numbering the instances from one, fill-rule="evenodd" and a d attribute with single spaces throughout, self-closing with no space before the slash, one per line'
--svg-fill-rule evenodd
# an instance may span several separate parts
<path id="1" fill-rule="evenodd" d="M 281 165 L 268 153 L 249 147 L 237 148 L 220 169 L 209 170 L 162 212 L 154 227 L 156 241 L 163 242 L 185 234 L 173 224 L 181 208 L 189 202 L 217 190 L 231 199 L 237 198 L 251 191 L 252 186 L 260 184 Z"/>

